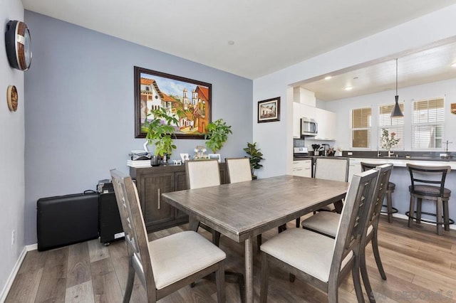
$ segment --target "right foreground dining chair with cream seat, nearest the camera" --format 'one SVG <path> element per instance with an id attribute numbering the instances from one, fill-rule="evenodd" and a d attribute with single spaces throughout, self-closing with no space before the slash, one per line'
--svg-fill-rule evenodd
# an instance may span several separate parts
<path id="1" fill-rule="evenodd" d="M 353 175 L 335 239 L 290 228 L 261 245 L 260 302 L 267 300 L 270 265 L 326 292 L 331 303 L 338 302 L 338 286 L 351 272 L 358 302 L 364 302 L 359 275 L 360 247 L 377 179 L 375 169 Z"/>

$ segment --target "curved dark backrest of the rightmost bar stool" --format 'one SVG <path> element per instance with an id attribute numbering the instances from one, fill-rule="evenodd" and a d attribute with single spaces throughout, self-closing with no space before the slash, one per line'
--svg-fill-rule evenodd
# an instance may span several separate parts
<path id="1" fill-rule="evenodd" d="M 451 166 L 422 166 L 407 164 L 410 173 L 412 192 L 417 185 L 431 185 L 440 188 L 439 195 L 443 197 L 445 192 L 445 179 L 451 171 Z"/>

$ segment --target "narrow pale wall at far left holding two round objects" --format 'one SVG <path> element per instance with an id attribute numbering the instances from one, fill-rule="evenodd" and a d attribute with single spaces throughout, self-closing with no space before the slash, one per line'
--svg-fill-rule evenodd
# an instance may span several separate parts
<path id="1" fill-rule="evenodd" d="M 0 0 L 0 302 L 6 296 L 6 282 L 18 265 L 24 250 L 24 72 L 11 68 L 6 57 L 6 23 L 24 20 L 24 8 L 19 0 Z M 6 89 L 15 85 L 19 104 L 16 112 L 6 105 Z M 250 102 L 252 103 L 252 102 Z M 14 230 L 15 243 L 11 244 Z"/>

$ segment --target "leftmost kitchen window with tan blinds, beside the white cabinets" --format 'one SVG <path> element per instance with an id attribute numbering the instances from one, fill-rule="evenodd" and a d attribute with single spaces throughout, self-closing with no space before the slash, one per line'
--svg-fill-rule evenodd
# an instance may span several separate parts
<path id="1" fill-rule="evenodd" d="M 371 107 L 351 111 L 351 147 L 371 147 Z"/>

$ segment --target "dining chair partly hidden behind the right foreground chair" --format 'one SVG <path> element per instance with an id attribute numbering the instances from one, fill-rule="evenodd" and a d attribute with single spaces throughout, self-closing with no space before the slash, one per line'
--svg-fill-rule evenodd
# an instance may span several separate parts
<path id="1" fill-rule="evenodd" d="M 388 181 L 390 179 L 391 171 L 393 170 L 393 164 L 383 164 L 376 166 L 379 171 L 379 177 L 377 184 L 375 185 L 374 200 L 372 203 L 371 210 L 368 213 L 366 235 L 363 238 L 361 245 L 361 275 L 363 277 L 364 288 L 369 296 L 370 302 L 375 302 L 373 297 L 371 283 L 369 281 L 367 266 L 366 266 L 366 245 L 369 242 L 372 244 L 373 255 L 375 257 L 375 263 L 377 264 L 378 272 L 383 280 L 386 280 L 385 270 L 380 259 L 380 252 L 378 250 L 378 221 L 380 219 L 380 212 L 383 204 L 383 198 L 385 192 L 388 190 Z M 341 219 L 341 215 L 338 213 L 331 212 L 320 212 L 314 216 L 307 218 L 302 222 L 302 227 L 306 230 L 311 230 L 322 235 L 326 235 L 330 238 L 336 238 L 338 222 Z"/>

